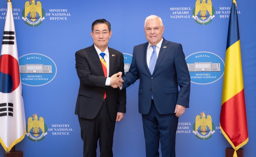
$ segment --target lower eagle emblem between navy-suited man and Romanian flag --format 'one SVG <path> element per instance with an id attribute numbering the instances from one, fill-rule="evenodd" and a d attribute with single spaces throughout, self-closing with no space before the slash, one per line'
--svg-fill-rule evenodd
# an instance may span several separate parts
<path id="1" fill-rule="evenodd" d="M 208 128 L 208 129 L 207 129 Z M 212 117 L 204 112 L 196 116 L 196 122 L 193 125 L 193 133 L 198 139 L 210 139 L 214 131 L 215 125 L 212 122 Z"/>

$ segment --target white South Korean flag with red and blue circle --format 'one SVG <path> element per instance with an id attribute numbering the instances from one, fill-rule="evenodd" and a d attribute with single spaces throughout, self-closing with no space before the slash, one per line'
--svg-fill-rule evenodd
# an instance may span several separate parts
<path id="1" fill-rule="evenodd" d="M 0 56 L 0 143 L 7 152 L 24 139 L 26 133 L 16 32 L 11 5 L 8 0 Z"/>

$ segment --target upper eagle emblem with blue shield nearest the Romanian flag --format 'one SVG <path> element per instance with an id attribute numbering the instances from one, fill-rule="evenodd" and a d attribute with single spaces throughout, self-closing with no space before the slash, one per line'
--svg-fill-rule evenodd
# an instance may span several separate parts
<path id="1" fill-rule="evenodd" d="M 207 14 L 208 12 L 208 14 Z M 211 0 L 196 0 L 196 6 L 192 11 L 192 18 L 195 19 L 195 22 L 200 25 L 206 25 L 212 22 L 212 19 L 215 17 L 215 10 L 212 6 Z"/>

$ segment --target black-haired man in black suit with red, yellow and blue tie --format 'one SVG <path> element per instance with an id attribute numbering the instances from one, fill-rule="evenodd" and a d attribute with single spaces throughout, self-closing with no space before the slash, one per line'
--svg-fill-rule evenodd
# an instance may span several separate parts
<path id="1" fill-rule="evenodd" d="M 108 21 L 94 21 L 91 35 L 94 44 L 75 54 L 80 80 L 75 114 L 84 141 L 84 157 L 96 157 L 98 139 L 100 157 L 113 157 L 114 128 L 126 112 L 126 90 L 112 87 L 124 76 L 124 57 L 108 47 L 112 35 Z"/>

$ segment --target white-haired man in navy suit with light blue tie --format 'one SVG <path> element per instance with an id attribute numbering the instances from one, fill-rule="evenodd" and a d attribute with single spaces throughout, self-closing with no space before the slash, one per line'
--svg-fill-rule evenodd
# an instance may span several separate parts
<path id="1" fill-rule="evenodd" d="M 181 44 L 162 38 L 160 17 L 148 16 L 144 30 L 148 42 L 134 47 L 130 70 L 120 84 L 125 89 L 140 79 L 146 157 L 159 157 L 159 138 L 162 157 L 175 157 L 178 117 L 189 107 L 190 75 Z"/>

